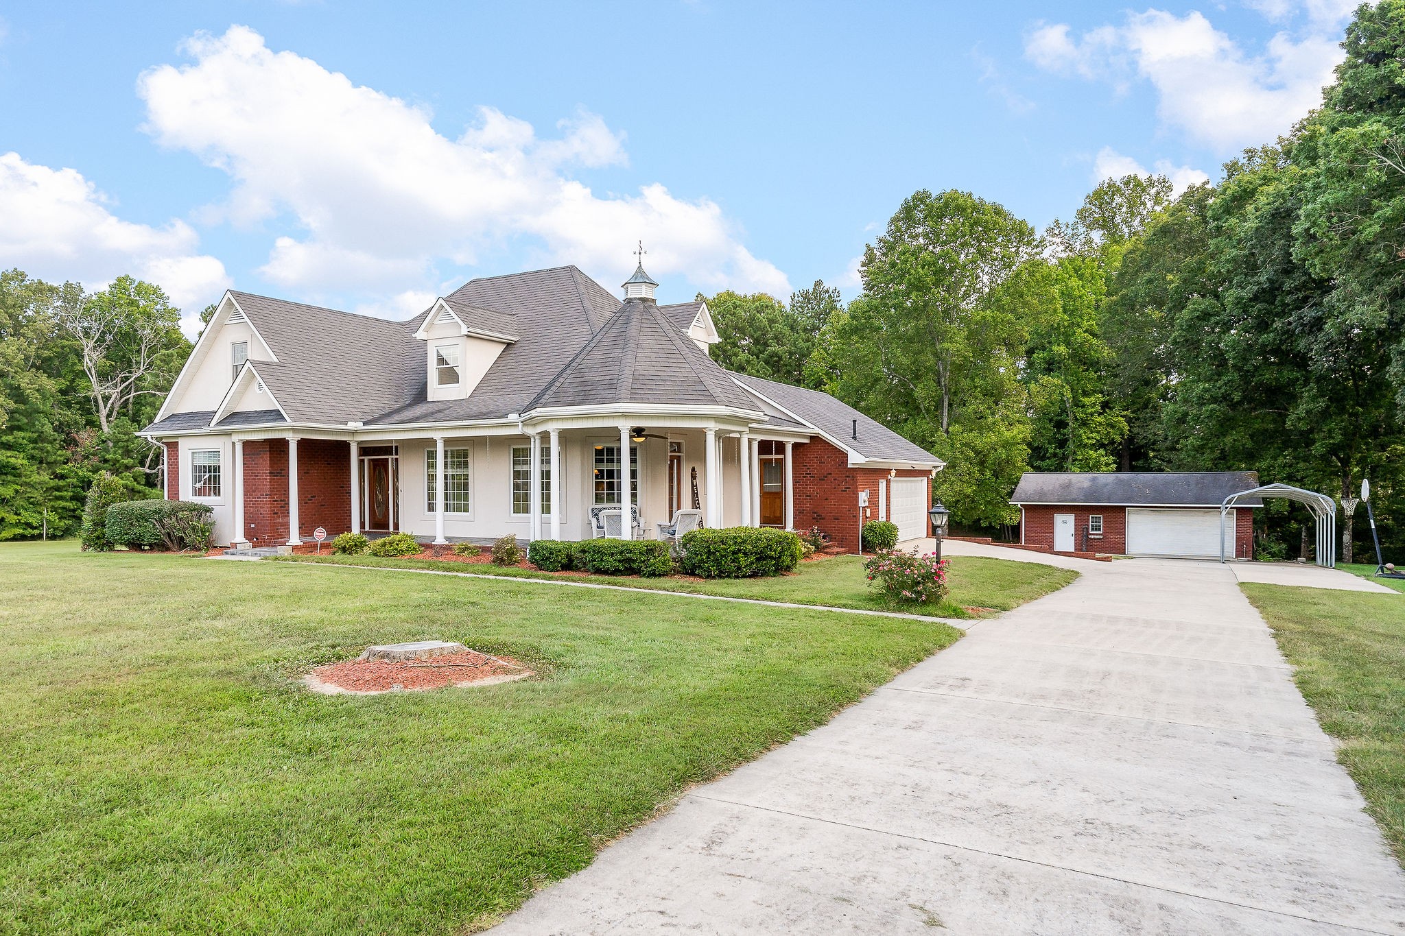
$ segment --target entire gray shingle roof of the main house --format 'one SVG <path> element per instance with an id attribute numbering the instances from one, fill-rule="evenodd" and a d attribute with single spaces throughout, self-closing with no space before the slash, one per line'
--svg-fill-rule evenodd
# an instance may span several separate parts
<path id="1" fill-rule="evenodd" d="M 292 422 L 461 422 L 502 420 L 531 407 L 611 403 L 728 406 L 766 413 L 766 425 L 776 428 L 819 427 L 865 457 L 936 463 L 828 394 L 724 370 L 686 334 L 701 302 L 621 303 L 575 267 L 473 279 L 444 297 L 469 328 L 517 338 L 466 400 L 426 399 L 424 344 L 414 333 L 433 309 L 409 321 L 388 321 L 246 292 L 230 295 L 278 358 L 250 363 Z M 805 422 L 777 414 L 738 380 Z M 212 417 L 211 411 L 176 413 L 145 431 L 204 429 Z M 860 424 L 857 442 L 849 439 L 853 418 Z M 219 427 L 275 421 L 282 415 L 266 408 L 229 414 Z"/>

